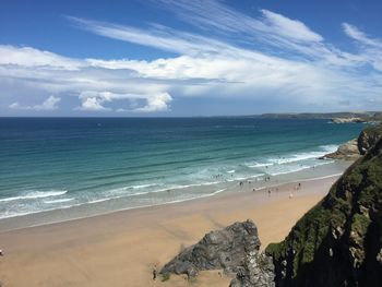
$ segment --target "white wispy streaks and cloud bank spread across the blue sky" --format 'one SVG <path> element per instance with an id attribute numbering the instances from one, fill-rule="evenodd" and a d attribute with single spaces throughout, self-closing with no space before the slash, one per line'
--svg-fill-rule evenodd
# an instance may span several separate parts
<path id="1" fill-rule="evenodd" d="M 192 96 L 266 99 L 318 109 L 342 108 L 344 103 L 362 109 L 378 103 L 381 40 L 355 26 L 343 25 L 359 46 L 351 53 L 335 48 L 305 23 L 267 10 L 252 17 L 217 1 L 163 0 L 160 7 L 200 33 L 160 24 L 136 28 L 68 20 L 91 33 L 171 51 L 175 57 L 72 59 L 32 47 L 0 46 L 0 86 L 10 93 L 17 85 L 76 97 L 77 111 L 169 111 L 175 98 Z M 11 106 L 22 107 L 19 101 Z"/>

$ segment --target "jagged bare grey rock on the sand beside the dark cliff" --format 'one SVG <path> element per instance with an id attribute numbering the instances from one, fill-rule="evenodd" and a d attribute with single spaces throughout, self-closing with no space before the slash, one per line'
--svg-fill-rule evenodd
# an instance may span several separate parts
<path id="1" fill-rule="evenodd" d="M 272 260 L 262 254 L 258 228 L 251 220 L 235 223 L 222 230 L 206 234 L 201 241 L 180 252 L 167 263 L 160 274 L 187 274 L 224 270 L 237 278 L 231 286 L 274 286 Z"/>

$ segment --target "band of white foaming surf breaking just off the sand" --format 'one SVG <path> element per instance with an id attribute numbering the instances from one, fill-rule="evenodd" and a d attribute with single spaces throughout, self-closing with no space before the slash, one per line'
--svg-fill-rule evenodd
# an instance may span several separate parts
<path id="1" fill-rule="evenodd" d="M 68 191 L 63 191 L 63 190 L 51 190 L 51 191 L 31 191 L 31 192 L 26 192 L 24 194 L 20 194 L 17 196 L 13 196 L 13 198 L 5 198 L 5 199 L 0 199 L 0 202 L 11 202 L 11 201 L 21 201 L 21 206 L 20 211 L 21 213 L 17 213 L 17 211 L 9 211 L 5 212 L 3 214 L 0 214 L 0 218 L 5 218 L 5 217 L 13 217 L 13 216 L 19 216 L 19 215 L 26 215 L 29 213 L 24 213 L 24 211 L 26 210 L 25 207 L 28 207 L 28 204 L 31 204 L 31 207 L 33 207 L 31 211 L 31 213 L 38 213 L 38 212 L 47 212 L 50 211 L 48 208 L 50 207 L 56 207 L 56 208 L 51 208 L 51 210 L 59 210 L 59 208 L 69 208 L 69 207 L 74 207 L 74 206 L 80 206 L 80 205 L 87 205 L 87 204 L 97 204 L 97 203 L 102 203 L 102 202 L 107 202 L 107 201 L 111 201 L 111 200 L 119 200 L 119 199 L 128 199 L 131 198 L 132 202 L 141 202 L 141 198 L 142 196 L 142 203 L 147 202 L 145 199 L 147 196 L 145 196 L 145 194 L 154 194 L 154 193 L 159 193 L 158 194 L 158 199 L 160 198 L 160 203 L 158 204 L 166 204 L 166 202 L 168 200 L 174 200 L 175 201 L 170 201 L 168 203 L 171 202 L 181 202 L 184 200 L 190 200 L 191 198 L 204 198 L 204 196 L 211 196 L 214 194 L 217 194 L 219 192 L 225 191 L 226 189 L 218 189 L 218 188 L 223 188 L 224 186 L 220 186 L 222 183 L 225 182 L 230 182 L 230 181 L 243 181 L 243 180 L 249 180 L 249 179 L 253 179 L 253 178 L 261 178 L 263 176 L 265 176 L 264 172 L 266 172 L 266 175 L 270 176 L 278 176 L 278 175 L 284 175 L 284 174 L 293 174 L 293 172 L 297 172 L 303 169 L 308 169 L 308 168 L 312 168 L 313 165 L 314 166 L 319 166 L 319 165 L 323 165 L 323 164 L 331 164 L 333 163 L 331 162 L 320 162 L 319 160 L 314 160 L 314 162 L 303 162 L 306 159 L 312 159 L 312 158 L 318 158 L 319 156 L 322 156 L 325 153 L 335 151 L 337 148 L 337 145 L 322 145 L 319 146 L 315 151 L 313 152 L 300 152 L 300 153 L 295 153 L 295 154 L 288 154 L 284 157 L 279 157 L 279 156 L 273 156 L 270 158 L 256 158 L 256 162 L 252 162 L 251 165 L 248 164 L 231 164 L 229 162 L 228 165 L 226 166 L 214 166 L 213 168 L 208 168 L 206 169 L 206 171 L 203 171 L 201 174 L 198 174 L 195 177 L 195 174 L 190 174 L 191 178 L 189 177 L 189 174 L 186 174 L 187 176 L 187 181 L 184 180 L 184 178 L 182 178 L 183 180 L 180 181 L 180 178 L 176 178 L 175 180 L 177 182 L 160 182 L 158 180 L 155 180 L 156 182 L 153 183 L 148 183 L 148 180 L 145 180 L 143 182 L 138 182 L 135 181 L 133 184 L 131 186 L 127 186 L 127 187 L 122 187 L 122 188 L 117 188 L 117 189 L 108 189 L 108 190 L 103 190 L 100 191 L 98 194 L 94 194 L 96 196 L 94 196 L 93 194 L 88 194 L 88 196 L 86 198 L 79 198 L 79 199 L 71 199 L 71 198 L 67 198 L 67 196 L 62 196 L 62 198 L 56 198 L 55 196 L 61 196 L 64 195 Z M 296 164 L 295 162 L 301 162 L 301 164 Z M 294 164 L 295 163 L 295 164 Z M 248 168 L 261 168 L 261 167 L 265 167 L 267 166 L 267 170 L 265 171 L 264 169 L 260 169 L 258 171 L 248 169 Z M 214 179 L 211 179 L 211 174 L 218 174 L 218 172 L 223 172 L 222 170 L 226 170 L 225 172 L 230 174 L 229 177 L 226 176 L 223 177 L 222 176 L 222 180 L 216 180 L 214 181 Z M 215 172 L 216 171 L 216 172 Z M 242 172 L 241 172 L 242 171 Z M 259 174 L 262 172 L 262 174 Z M 235 174 L 235 175 L 234 175 Z M 255 174 L 255 175 L 253 175 Z M 184 175 L 182 175 L 184 176 Z M 211 180 L 211 181 L 210 181 Z M 148 181 L 148 182 L 147 182 Z M 183 182 L 182 182 L 183 181 Z M 199 182 L 198 182 L 199 181 Z M 202 182 L 201 182 L 202 181 Z M 191 182 L 198 182 L 198 183 L 191 183 Z M 141 184 L 140 184 L 141 183 Z M 177 184 L 180 183 L 180 184 Z M 187 184 L 190 183 L 190 184 Z M 214 187 L 214 184 L 217 184 Z M 231 183 L 229 183 L 231 184 Z M 208 189 L 198 189 L 199 187 L 206 187 L 206 186 L 213 186 Z M 192 188 L 194 189 L 194 192 L 192 190 Z M 187 191 L 181 191 L 183 189 L 190 189 L 190 192 Z M 215 190 L 215 191 L 213 191 Z M 162 196 L 160 192 L 171 192 L 171 196 L 167 196 L 166 193 L 164 193 L 165 195 Z M 202 192 L 201 192 L 202 191 Z M 174 193 L 172 193 L 174 192 Z M 204 193 L 204 194 L 203 194 Z M 135 198 L 139 196 L 139 198 Z M 150 195 L 148 195 L 150 196 Z M 44 200 L 43 203 L 46 203 L 46 206 L 40 206 L 40 202 L 39 201 L 33 201 L 36 199 L 45 199 L 47 198 L 47 200 Z M 49 199 L 51 198 L 51 199 Z M 154 199 L 156 199 L 157 196 L 154 196 Z M 29 202 L 24 202 L 24 200 L 29 200 Z M 75 200 L 75 201 L 74 201 Z M 166 202 L 162 202 L 162 201 L 166 201 Z M 51 205 L 49 205 L 51 204 Z M 25 205 L 25 206 L 24 206 Z M 8 208 L 8 207 L 7 207 Z M 36 211 L 35 208 L 41 208 L 40 211 Z M 22 211 L 23 210 L 23 211 Z"/>

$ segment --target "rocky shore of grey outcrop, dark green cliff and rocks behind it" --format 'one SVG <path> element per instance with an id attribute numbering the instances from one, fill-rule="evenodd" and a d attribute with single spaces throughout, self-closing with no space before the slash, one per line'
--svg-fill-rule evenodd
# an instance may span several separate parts
<path id="1" fill-rule="evenodd" d="M 253 222 L 211 231 L 160 274 L 235 274 L 230 287 L 380 286 L 382 282 L 382 125 L 325 158 L 357 159 L 279 243 L 260 251 Z"/>

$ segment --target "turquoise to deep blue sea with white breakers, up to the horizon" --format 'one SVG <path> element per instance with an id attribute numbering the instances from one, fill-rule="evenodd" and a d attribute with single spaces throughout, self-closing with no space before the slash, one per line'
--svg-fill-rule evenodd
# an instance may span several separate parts
<path id="1" fill-rule="evenodd" d="M 0 118 L 0 231 L 14 218 L 39 225 L 339 175 L 348 164 L 318 158 L 362 128 L 260 117 Z"/>

